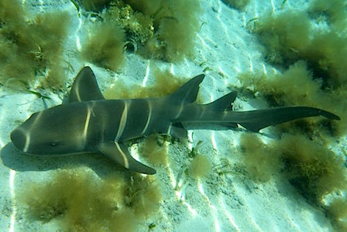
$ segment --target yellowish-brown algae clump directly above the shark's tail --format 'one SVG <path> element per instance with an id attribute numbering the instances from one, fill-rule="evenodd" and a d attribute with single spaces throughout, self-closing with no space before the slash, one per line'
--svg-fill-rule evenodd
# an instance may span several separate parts
<path id="1" fill-rule="evenodd" d="M 257 71 L 254 74 L 241 73 L 237 78 L 243 86 L 260 93 L 273 106 L 329 106 L 328 102 L 322 102 L 324 98 L 321 96 L 324 92 L 321 90 L 321 80 L 312 79 L 312 73 L 307 70 L 303 61 L 290 66 L 283 73 L 265 74 Z"/>

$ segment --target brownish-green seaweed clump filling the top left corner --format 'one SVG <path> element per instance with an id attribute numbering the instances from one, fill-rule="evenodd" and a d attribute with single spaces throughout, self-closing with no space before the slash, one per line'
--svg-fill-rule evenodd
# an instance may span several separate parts
<path id="1" fill-rule="evenodd" d="M 70 15 L 28 15 L 20 1 L 0 1 L 0 82 L 24 89 L 65 86 L 68 63 L 62 55 Z"/>

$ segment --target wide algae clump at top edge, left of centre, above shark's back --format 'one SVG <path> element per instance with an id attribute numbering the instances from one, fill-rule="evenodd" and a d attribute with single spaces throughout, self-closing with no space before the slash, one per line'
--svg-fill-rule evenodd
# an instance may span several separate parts
<path id="1" fill-rule="evenodd" d="M 99 12 L 82 48 L 88 62 L 117 71 L 123 48 L 168 62 L 194 54 L 198 0 L 78 2 L 74 1 L 76 8 Z"/>

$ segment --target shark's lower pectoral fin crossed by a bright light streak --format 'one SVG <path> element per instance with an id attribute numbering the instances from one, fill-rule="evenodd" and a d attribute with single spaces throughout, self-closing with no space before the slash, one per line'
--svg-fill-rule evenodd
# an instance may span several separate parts
<path id="1" fill-rule="evenodd" d="M 123 143 L 117 143 L 115 141 L 101 143 L 99 145 L 99 151 L 128 170 L 149 175 L 155 174 L 153 168 L 145 166 L 143 163 L 140 163 L 131 157 L 127 146 Z"/>

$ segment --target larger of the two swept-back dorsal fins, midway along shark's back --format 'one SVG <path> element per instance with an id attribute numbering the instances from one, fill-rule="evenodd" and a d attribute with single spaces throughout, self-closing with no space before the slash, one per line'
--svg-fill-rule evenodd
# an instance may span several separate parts
<path id="1" fill-rule="evenodd" d="M 167 99 L 180 104 L 194 102 L 198 95 L 198 85 L 203 81 L 203 78 L 205 78 L 205 74 L 196 75 L 195 78 L 192 78 L 183 84 L 182 87 L 174 91 L 174 93 L 169 95 Z"/>

